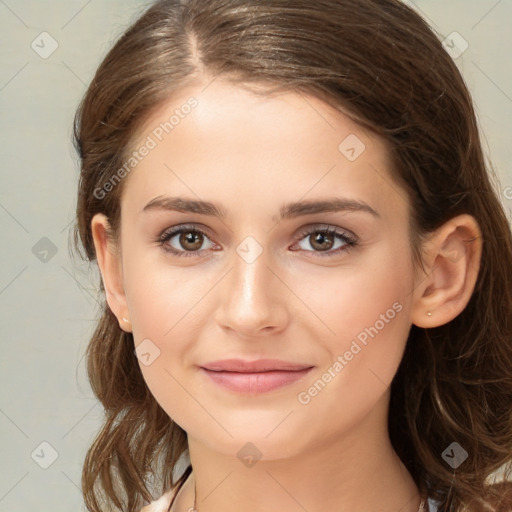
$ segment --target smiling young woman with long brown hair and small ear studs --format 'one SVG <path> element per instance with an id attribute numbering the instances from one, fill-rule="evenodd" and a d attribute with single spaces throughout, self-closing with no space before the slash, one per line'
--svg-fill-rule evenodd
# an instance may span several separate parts
<path id="1" fill-rule="evenodd" d="M 512 236 L 417 14 L 156 2 L 75 140 L 89 510 L 510 510 Z"/>

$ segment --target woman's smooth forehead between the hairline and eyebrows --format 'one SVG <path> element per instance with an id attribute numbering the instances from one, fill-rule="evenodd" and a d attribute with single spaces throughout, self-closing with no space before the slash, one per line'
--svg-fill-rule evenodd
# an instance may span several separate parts
<path id="1" fill-rule="evenodd" d="M 190 87 L 146 120 L 132 149 L 144 145 L 151 149 L 127 180 L 139 208 L 166 192 L 227 202 L 264 194 L 260 208 L 271 198 L 326 193 L 362 194 L 377 205 L 383 192 L 388 203 L 404 199 L 385 142 L 302 93 L 253 94 L 220 79 Z"/>

